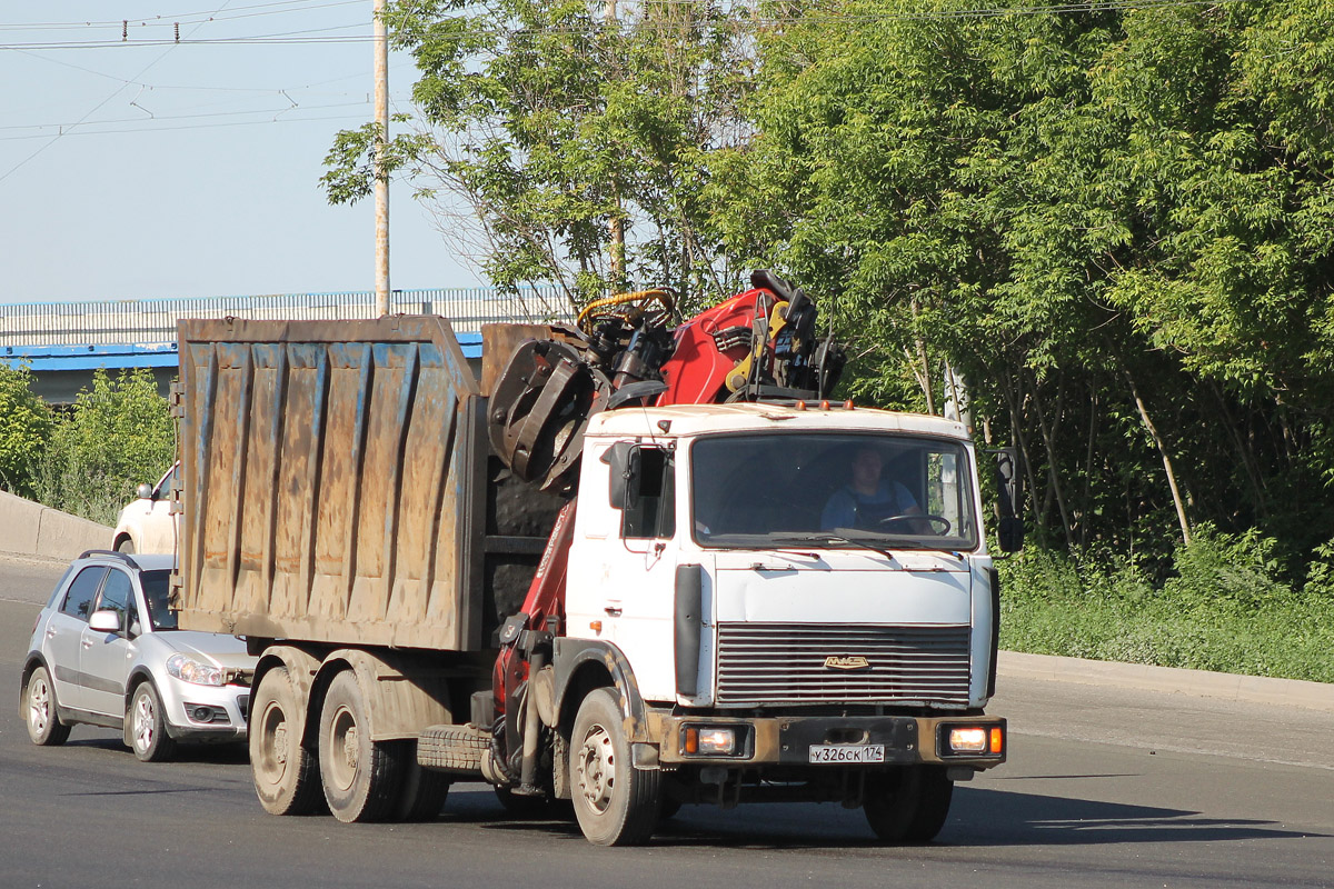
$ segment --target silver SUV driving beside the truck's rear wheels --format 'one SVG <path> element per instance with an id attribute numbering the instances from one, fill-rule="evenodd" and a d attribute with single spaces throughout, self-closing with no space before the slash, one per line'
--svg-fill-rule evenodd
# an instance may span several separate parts
<path id="1" fill-rule="evenodd" d="M 101 725 L 149 762 L 177 741 L 245 740 L 256 658 L 235 636 L 176 629 L 173 561 L 91 550 L 69 565 L 24 658 L 20 713 L 33 744 Z"/>

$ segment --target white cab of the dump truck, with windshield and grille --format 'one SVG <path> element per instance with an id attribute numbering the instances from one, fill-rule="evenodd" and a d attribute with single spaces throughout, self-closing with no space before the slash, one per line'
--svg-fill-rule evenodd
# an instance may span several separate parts
<path id="1" fill-rule="evenodd" d="M 983 756 L 951 773 L 970 777 L 1005 741 L 1003 720 L 978 721 L 998 608 L 980 514 L 954 421 L 800 404 L 606 412 L 584 440 L 564 636 L 624 658 L 664 764 L 690 761 L 696 717 L 735 722 L 723 744 L 748 764 L 948 762 L 964 750 L 938 729 L 967 717 Z M 778 728 L 803 717 L 784 745 Z"/>

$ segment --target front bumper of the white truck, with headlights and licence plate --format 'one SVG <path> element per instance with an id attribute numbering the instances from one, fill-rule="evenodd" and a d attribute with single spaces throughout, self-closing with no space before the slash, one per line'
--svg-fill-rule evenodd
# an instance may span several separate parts
<path id="1" fill-rule="evenodd" d="M 732 729 L 738 744 L 732 753 L 687 752 L 687 730 Z M 987 738 L 982 752 L 959 753 L 950 748 L 951 729 L 982 729 Z M 1006 760 L 1009 746 L 1006 720 L 998 716 L 780 716 L 732 718 L 726 714 L 680 716 L 650 712 L 650 734 L 658 744 L 660 765 L 810 765 L 811 748 L 880 746 L 886 765 L 940 764 L 990 769 Z M 995 732 L 999 730 L 999 736 Z M 999 741 L 999 742 L 996 742 Z M 834 765 L 848 765 L 847 762 Z M 856 764 L 852 764 L 856 765 Z"/>

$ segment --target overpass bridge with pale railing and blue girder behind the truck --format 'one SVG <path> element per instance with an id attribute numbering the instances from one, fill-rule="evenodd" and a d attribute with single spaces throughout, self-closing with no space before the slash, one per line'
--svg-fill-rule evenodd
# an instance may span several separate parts
<path id="1" fill-rule="evenodd" d="M 490 287 L 394 291 L 390 312 L 443 315 L 468 357 L 480 356 L 483 324 L 571 320 L 555 288 L 528 288 L 518 295 Z M 36 395 L 49 404 L 69 404 L 99 368 L 148 368 L 165 395 L 176 376 L 177 319 L 371 319 L 375 293 L 21 303 L 0 305 L 0 361 L 27 364 Z"/>

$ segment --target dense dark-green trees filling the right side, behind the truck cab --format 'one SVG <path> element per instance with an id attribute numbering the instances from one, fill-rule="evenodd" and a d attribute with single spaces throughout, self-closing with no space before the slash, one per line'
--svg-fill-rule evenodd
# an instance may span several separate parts
<path id="1" fill-rule="evenodd" d="M 1039 538 L 1327 540 L 1327 7 L 923 7 L 962 8 L 816 3 L 762 36 L 756 136 L 714 159 L 730 249 L 838 307 L 855 391 L 939 405 L 962 372 Z"/>

